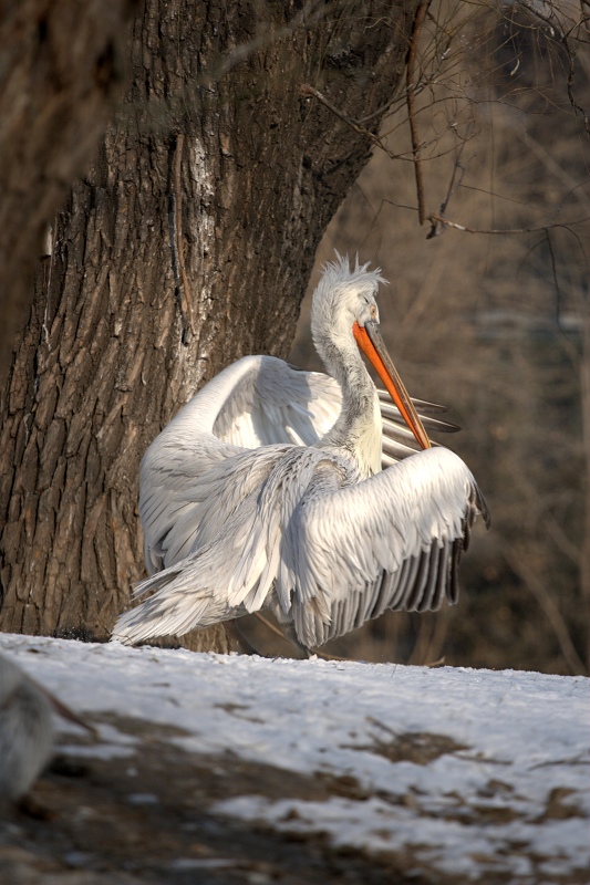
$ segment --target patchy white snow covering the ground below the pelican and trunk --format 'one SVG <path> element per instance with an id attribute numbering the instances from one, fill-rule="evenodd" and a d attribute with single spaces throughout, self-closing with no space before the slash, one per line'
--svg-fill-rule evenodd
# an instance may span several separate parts
<path id="1" fill-rule="evenodd" d="M 263 659 L 0 634 L 8 654 L 99 740 L 69 753 L 133 756 L 116 716 L 174 726 L 163 739 L 350 788 L 324 801 L 238 795 L 209 811 L 324 833 L 415 870 L 553 882 L 590 864 L 590 679 L 537 673 Z M 101 714 L 110 722 L 101 722 Z M 115 725 L 113 719 L 115 717 Z M 217 762 L 216 762 L 217 763 Z M 222 761 L 219 762 L 222 764 Z M 334 781 L 337 782 L 337 781 Z M 135 802 L 153 799 L 141 790 Z"/>

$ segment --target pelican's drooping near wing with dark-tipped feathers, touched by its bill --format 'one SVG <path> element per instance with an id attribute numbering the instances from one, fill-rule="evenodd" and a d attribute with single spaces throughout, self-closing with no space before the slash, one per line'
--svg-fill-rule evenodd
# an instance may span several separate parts
<path id="1" fill-rule="evenodd" d="M 301 643 L 315 647 L 386 608 L 457 600 L 460 553 L 487 509 L 448 449 L 420 452 L 356 486 L 302 499 L 283 539 L 277 586 Z"/>

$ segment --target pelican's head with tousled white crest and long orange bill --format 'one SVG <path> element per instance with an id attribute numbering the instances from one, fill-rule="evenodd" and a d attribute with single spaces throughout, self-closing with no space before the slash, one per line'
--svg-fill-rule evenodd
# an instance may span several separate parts
<path id="1" fill-rule="evenodd" d="M 337 252 L 337 260 L 323 268 L 322 278 L 313 293 L 311 335 L 318 353 L 338 377 L 342 367 L 352 362 L 356 346 L 364 353 L 400 409 L 405 423 L 422 448 L 431 441 L 422 425 L 403 382 L 393 365 L 379 331 L 376 295 L 379 284 L 387 284 L 381 269 L 360 266 L 359 257 L 351 269 L 348 256 Z"/>

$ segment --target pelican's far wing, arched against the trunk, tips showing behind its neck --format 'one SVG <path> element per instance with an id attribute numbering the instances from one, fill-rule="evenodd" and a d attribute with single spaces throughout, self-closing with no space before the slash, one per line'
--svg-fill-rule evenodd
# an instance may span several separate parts
<path id="1" fill-rule="evenodd" d="M 142 460 L 139 516 L 149 574 L 219 534 L 241 498 L 265 479 L 265 447 L 313 446 L 337 421 L 341 405 L 333 378 L 273 356 L 245 356 L 206 384 Z M 415 440 L 389 394 L 382 397 L 382 415 L 387 467 L 412 455 Z M 256 460 L 240 459 L 245 449 L 256 449 Z"/>

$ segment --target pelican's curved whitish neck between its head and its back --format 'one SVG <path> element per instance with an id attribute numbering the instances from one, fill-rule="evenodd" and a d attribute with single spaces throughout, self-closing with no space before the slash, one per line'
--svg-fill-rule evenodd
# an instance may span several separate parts
<path id="1" fill-rule="evenodd" d="M 344 448 L 359 465 L 362 478 L 381 470 L 382 423 L 379 395 L 356 343 L 332 336 L 314 336 L 315 347 L 332 377 L 342 388 L 342 410 L 320 441 L 322 447 Z"/>

